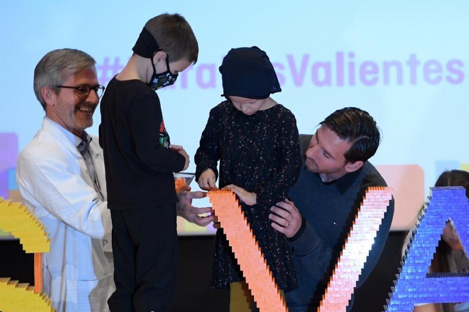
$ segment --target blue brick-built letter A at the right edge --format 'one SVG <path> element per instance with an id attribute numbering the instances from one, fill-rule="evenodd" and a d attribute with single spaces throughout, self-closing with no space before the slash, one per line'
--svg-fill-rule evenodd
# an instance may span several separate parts
<path id="1" fill-rule="evenodd" d="M 414 304 L 469 302 L 468 274 L 427 274 L 448 219 L 468 255 L 469 204 L 461 186 L 432 187 L 403 258 L 385 311 L 412 312 Z"/>

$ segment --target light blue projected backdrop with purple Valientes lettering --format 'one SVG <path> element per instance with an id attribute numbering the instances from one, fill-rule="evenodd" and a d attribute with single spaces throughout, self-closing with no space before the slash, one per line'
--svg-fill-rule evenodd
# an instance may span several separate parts
<path id="1" fill-rule="evenodd" d="M 41 125 L 32 89 L 39 59 L 52 49 L 81 49 L 96 59 L 106 85 L 131 56 L 145 22 L 163 12 L 183 14 L 199 40 L 199 61 L 158 92 L 172 142 L 191 157 L 209 110 L 223 100 L 223 56 L 256 45 L 269 55 L 283 90 L 273 98 L 295 114 L 300 133 L 313 133 L 346 106 L 375 117 L 383 142 L 371 161 L 395 189 L 393 229 L 413 226 L 443 170 L 468 168 L 467 1 L 5 1 L 0 196 L 19 200 L 17 153 Z M 98 109 L 91 134 L 100 118 Z M 188 171 L 194 170 L 192 162 Z M 182 220 L 179 230 L 213 233 Z"/>

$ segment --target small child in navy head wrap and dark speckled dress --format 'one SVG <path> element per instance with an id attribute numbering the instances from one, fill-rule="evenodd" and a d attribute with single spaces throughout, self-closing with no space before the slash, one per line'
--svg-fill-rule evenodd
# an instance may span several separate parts
<path id="1" fill-rule="evenodd" d="M 296 288 L 287 238 L 269 222 L 270 207 L 283 200 L 298 178 L 301 158 L 293 114 L 270 98 L 280 86 L 267 55 L 257 47 L 232 49 L 220 66 L 227 100 L 210 111 L 195 156 L 196 179 L 203 189 L 231 189 L 262 249 L 278 287 Z M 217 163 L 220 160 L 220 176 Z M 288 224 L 285 224 L 288 226 Z M 212 286 L 245 288 L 242 273 L 223 229 L 213 252 Z M 249 299 L 248 299 L 249 300 Z"/>

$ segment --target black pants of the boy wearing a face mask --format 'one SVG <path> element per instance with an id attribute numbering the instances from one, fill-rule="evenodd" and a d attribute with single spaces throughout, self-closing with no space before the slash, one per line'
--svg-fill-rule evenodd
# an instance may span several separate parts
<path id="1" fill-rule="evenodd" d="M 170 311 L 178 265 L 175 205 L 111 210 L 111 220 L 116 291 L 109 309 Z"/>

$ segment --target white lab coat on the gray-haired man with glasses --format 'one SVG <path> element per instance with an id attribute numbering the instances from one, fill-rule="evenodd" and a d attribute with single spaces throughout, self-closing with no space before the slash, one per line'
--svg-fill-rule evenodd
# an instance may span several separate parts
<path id="1" fill-rule="evenodd" d="M 51 238 L 50 252 L 44 254 L 44 293 L 57 312 L 109 311 L 107 299 L 115 286 L 103 151 L 94 137 L 89 153 L 101 200 L 83 157 L 64 131 L 45 117 L 19 154 L 16 173 L 24 203 Z"/>

